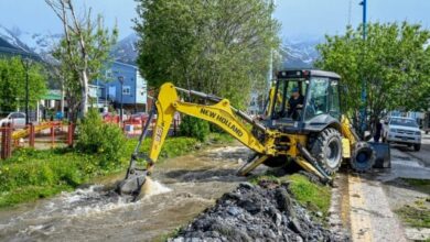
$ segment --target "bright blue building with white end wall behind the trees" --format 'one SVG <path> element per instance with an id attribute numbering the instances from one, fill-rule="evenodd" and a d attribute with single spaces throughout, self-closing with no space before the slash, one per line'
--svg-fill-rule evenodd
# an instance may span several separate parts
<path id="1" fill-rule="evenodd" d="M 114 62 L 106 70 L 104 78 L 89 87 L 89 96 L 96 99 L 98 108 L 112 105 L 128 112 L 146 112 L 147 81 L 140 76 L 137 66 Z"/>

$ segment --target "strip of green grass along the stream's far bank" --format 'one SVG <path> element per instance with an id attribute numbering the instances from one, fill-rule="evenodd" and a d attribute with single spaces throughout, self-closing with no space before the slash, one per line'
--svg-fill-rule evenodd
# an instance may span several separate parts
<path id="1" fill-rule="evenodd" d="M 226 143 L 223 134 L 211 134 L 211 144 Z M 85 154 L 74 148 L 36 151 L 21 148 L 9 160 L 0 162 L 0 208 L 51 197 L 63 190 L 73 190 L 97 177 L 125 172 L 137 140 L 127 140 L 119 162 L 100 165 L 97 154 Z M 148 151 L 146 140 L 142 151 Z M 193 138 L 169 138 L 160 153 L 160 162 L 196 151 L 208 145 Z"/>

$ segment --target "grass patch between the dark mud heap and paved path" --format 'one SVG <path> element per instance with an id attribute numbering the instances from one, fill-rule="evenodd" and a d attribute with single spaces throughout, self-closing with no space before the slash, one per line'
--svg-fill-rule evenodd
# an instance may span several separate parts
<path id="1" fill-rule="evenodd" d="M 329 212 L 331 189 L 327 186 L 314 184 L 301 174 L 279 177 L 269 173 L 250 178 L 254 184 L 258 184 L 260 180 L 271 180 L 277 184 L 289 182 L 289 189 L 300 205 L 314 212 L 321 211 L 324 216 Z"/>

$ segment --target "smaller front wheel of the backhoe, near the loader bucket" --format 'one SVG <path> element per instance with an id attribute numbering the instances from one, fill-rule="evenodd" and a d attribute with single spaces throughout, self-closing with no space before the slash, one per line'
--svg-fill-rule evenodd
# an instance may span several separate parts
<path id="1" fill-rule="evenodd" d="M 357 142 L 351 156 L 351 167 L 358 173 L 364 173 L 374 166 L 376 161 L 375 151 L 366 142 Z"/>

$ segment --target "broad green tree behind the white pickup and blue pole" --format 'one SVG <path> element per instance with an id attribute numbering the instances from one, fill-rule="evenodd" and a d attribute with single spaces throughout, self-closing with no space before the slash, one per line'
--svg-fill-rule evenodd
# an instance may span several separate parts
<path id="1" fill-rule="evenodd" d="M 362 26 L 344 35 L 326 36 L 318 46 L 316 67 L 338 73 L 346 92 L 344 110 L 358 120 L 367 106 L 369 122 L 393 109 L 427 110 L 430 103 L 430 32 L 418 24 L 370 23 L 366 41 Z M 362 80 L 367 102 L 361 102 Z"/>

